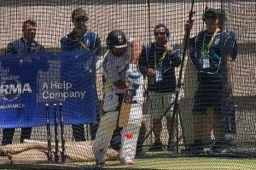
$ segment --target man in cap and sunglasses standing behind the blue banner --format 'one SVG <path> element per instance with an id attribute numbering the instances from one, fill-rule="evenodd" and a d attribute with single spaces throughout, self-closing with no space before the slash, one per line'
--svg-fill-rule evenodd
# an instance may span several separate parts
<path id="1" fill-rule="evenodd" d="M 86 22 L 89 20 L 84 8 L 75 8 L 72 13 L 73 31 L 61 38 L 61 51 L 77 51 L 86 49 L 99 55 L 101 52 L 101 41 L 95 32 L 87 29 Z M 95 67 L 96 64 L 93 64 Z M 97 116 L 99 114 L 97 113 Z M 98 117 L 99 118 L 99 117 Z M 84 125 L 72 125 L 73 139 L 84 141 Z M 91 139 L 95 139 L 97 122 L 90 124 Z"/>

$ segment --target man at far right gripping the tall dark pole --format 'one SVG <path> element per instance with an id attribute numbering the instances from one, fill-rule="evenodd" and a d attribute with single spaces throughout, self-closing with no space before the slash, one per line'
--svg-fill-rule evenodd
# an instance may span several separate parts
<path id="1" fill-rule="evenodd" d="M 202 150 L 206 139 L 212 139 L 212 150 L 224 146 L 225 120 L 231 105 L 231 61 L 236 59 L 236 35 L 221 31 L 219 10 L 208 8 L 203 14 L 206 30 L 190 39 L 190 59 L 195 65 L 199 86 L 195 91 L 193 120 L 195 149 Z M 187 23 L 186 29 L 192 24 Z"/>

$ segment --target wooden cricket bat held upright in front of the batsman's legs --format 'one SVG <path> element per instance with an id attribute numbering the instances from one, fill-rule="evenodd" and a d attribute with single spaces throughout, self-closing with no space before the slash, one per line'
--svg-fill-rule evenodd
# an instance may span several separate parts
<path id="1" fill-rule="evenodd" d="M 125 96 L 119 111 L 119 127 L 126 127 L 128 125 L 132 99 L 135 94 L 135 89 L 126 89 L 125 91 Z"/>

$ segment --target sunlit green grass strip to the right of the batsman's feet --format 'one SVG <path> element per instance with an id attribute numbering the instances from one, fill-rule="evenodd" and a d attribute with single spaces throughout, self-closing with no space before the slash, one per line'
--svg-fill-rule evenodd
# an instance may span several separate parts
<path id="1" fill-rule="evenodd" d="M 255 170 L 256 159 L 179 157 L 138 159 L 136 165 L 120 166 L 108 162 L 106 169 L 168 169 L 168 170 Z"/>

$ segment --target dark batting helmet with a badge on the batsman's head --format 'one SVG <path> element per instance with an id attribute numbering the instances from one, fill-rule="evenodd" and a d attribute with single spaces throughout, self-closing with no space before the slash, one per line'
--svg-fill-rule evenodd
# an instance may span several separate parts
<path id="1" fill-rule="evenodd" d="M 127 47 L 127 39 L 123 31 L 114 30 L 109 32 L 107 37 L 108 48 L 125 48 Z"/>

